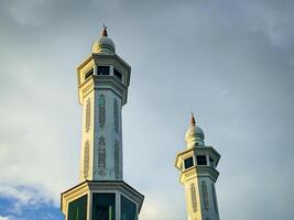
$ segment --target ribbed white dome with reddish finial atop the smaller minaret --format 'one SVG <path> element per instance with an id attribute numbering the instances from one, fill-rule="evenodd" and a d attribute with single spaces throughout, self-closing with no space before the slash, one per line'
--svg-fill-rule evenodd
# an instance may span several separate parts
<path id="1" fill-rule="evenodd" d="M 194 146 L 205 146 L 204 139 L 204 131 L 202 130 L 202 128 L 196 125 L 194 114 L 192 113 L 190 127 L 186 131 L 185 135 L 187 148 L 192 148 Z"/>

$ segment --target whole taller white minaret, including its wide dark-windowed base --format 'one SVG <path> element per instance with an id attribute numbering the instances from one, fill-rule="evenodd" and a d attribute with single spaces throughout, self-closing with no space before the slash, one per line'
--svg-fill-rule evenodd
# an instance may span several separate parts
<path id="1" fill-rule="evenodd" d="M 79 184 L 62 194 L 66 220 L 137 220 L 143 195 L 123 182 L 121 109 L 131 66 L 116 54 L 106 26 L 77 67 L 83 106 Z"/>

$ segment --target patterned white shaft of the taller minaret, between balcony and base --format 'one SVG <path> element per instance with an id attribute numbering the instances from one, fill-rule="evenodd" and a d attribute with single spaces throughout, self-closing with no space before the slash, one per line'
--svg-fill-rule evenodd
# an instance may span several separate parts
<path id="1" fill-rule="evenodd" d="M 121 95 L 97 85 L 84 100 L 80 182 L 122 179 Z"/>

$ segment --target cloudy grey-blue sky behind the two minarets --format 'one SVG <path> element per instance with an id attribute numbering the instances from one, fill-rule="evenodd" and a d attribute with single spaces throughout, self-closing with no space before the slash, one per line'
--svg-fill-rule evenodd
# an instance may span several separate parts
<path id="1" fill-rule="evenodd" d="M 77 65 L 102 24 L 132 66 L 124 180 L 140 220 L 186 219 L 190 111 L 220 154 L 220 219 L 294 219 L 294 1 L 2 0 L 0 220 L 61 220 L 78 184 Z"/>

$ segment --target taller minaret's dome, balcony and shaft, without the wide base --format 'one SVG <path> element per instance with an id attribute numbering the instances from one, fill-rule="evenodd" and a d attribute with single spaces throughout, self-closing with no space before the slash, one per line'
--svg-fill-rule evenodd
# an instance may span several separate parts
<path id="1" fill-rule="evenodd" d="M 89 59 L 78 67 L 83 105 L 80 182 L 122 180 L 121 109 L 130 66 L 116 53 L 106 29 Z"/>

